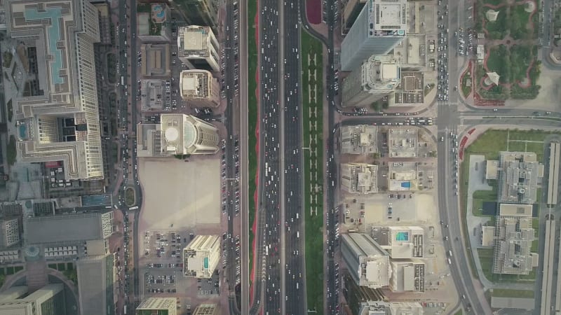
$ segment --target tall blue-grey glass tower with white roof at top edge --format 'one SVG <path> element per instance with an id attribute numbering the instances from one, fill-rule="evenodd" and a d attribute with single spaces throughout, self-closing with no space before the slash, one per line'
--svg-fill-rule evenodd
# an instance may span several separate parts
<path id="1" fill-rule="evenodd" d="M 341 69 L 353 71 L 371 55 L 386 55 L 406 29 L 407 0 L 367 1 L 341 45 Z"/>

